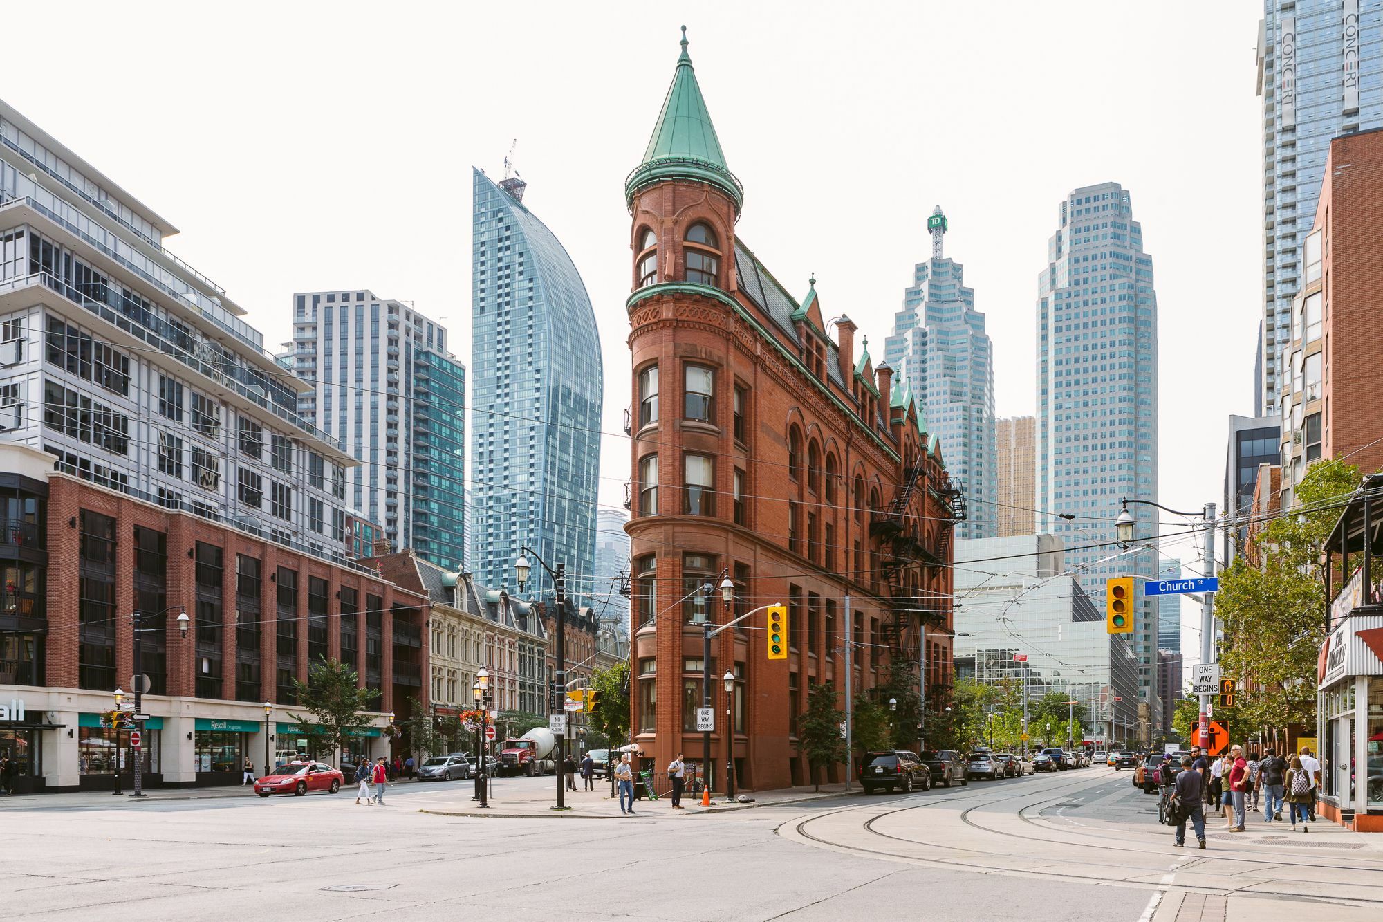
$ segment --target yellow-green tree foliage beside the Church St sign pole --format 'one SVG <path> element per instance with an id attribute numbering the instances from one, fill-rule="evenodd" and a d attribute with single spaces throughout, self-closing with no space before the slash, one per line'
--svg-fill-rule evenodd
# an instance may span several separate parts
<path id="1" fill-rule="evenodd" d="M 1325 638 L 1321 551 L 1340 518 L 1339 500 L 1359 485 L 1354 465 L 1318 461 L 1296 490 L 1303 512 L 1257 536 L 1261 566 L 1238 558 L 1220 579 L 1216 615 L 1225 641 L 1221 674 L 1239 683 L 1231 735 L 1315 723 L 1317 653 Z"/>

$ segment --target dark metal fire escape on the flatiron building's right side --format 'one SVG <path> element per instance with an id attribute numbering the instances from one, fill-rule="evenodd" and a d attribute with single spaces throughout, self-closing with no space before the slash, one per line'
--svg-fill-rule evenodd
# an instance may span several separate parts
<path id="1" fill-rule="evenodd" d="M 922 497 L 921 512 L 910 512 L 914 500 Z M 936 530 L 932 544 L 927 540 L 927 512 L 929 497 L 936 507 L 947 514 Z M 882 511 L 874 512 L 870 533 L 880 539 L 880 575 L 888 584 L 892 599 L 889 616 L 881 624 L 881 641 L 889 656 L 916 663 L 921 655 L 920 624 L 945 627 L 946 615 L 942 601 L 922 597 L 928 570 L 942 568 L 950 555 L 952 530 L 956 522 L 965 519 L 965 496 L 952 480 L 931 482 L 927 476 L 925 457 L 920 464 L 904 468 L 903 483 Z M 916 579 L 909 579 L 909 575 Z M 910 627 L 916 630 L 909 631 Z"/>

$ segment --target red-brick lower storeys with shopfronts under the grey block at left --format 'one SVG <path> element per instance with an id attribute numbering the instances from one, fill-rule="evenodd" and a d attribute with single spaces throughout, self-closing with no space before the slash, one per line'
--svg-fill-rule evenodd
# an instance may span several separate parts
<path id="1" fill-rule="evenodd" d="M 0 619 L 18 638 L 0 663 L 0 696 L 25 713 L 0 727 L 0 745 L 22 757 L 21 789 L 109 788 L 116 764 L 129 784 L 129 735 L 118 745 L 100 716 L 115 688 L 133 699 L 133 612 L 151 683 L 148 785 L 239 784 L 245 759 L 263 770 L 266 743 L 271 760 L 296 752 L 295 714 L 307 714 L 292 680 L 307 681 L 319 656 L 353 665 L 380 692 L 379 717 L 347 759 L 389 754 L 384 714 L 402 720 L 409 695 L 426 700 L 426 597 L 365 566 L 54 472 L 53 455 L 25 446 L 0 444 Z"/>

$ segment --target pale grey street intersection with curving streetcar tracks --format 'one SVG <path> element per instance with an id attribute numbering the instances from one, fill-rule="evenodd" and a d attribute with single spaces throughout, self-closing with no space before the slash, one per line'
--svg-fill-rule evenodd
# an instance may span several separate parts
<path id="1" fill-rule="evenodd" d="M 6 799 L 0 918 L 561 919 L 1376 918 L 1383 846 L 1332 824 L 1174 849 L 1129 772 L 1086 768 L 911 796 L 831 796 L 712 815 L 470 818 L 470 782 L 336 796 Z M 552 778 L 501 779 L 539 795 Z M 188 792 L 189 797 L 205 792 Z M 606 810 L 607 789 L 568 795 Z M 102 800 L 104 797 L 104 800 Z M 600 802 L 600 806 L 596 806 Z M 422 813 L 423 810 L 438 813 Z M 1261 824 L 1259 824 L 1261 825 Z M 1008 878 L 997 882 L 996 875 Z M 557 908 L 560 907 L 560 908 Z"/>

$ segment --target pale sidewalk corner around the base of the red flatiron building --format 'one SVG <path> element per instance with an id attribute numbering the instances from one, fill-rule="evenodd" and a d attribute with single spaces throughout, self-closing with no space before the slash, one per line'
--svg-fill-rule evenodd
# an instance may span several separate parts
<path id="1" fill-rule="evenodd" d="M 610 784 L 597 784 L 595 790 L 566 792 L 566 810 L 556 810 L 556 792 L 552 786 L 542 789 L 524 788 L 514 790 L 501 782 L 495 796 L 490 799 L 490 807 L 481 808 L 479 803 L 470 800 L 473 790 L 467 786 L 465 795 L 454 788 L 448 788 L 451 796 L 429 797 L 426 806 L 418 804 L 419 813 L 429 813 L 443 817 L 484 817 L 491 820 L 531 820 L 535 817 L 550 818 L 578 818 L 578 820 L 621 820 L 618 797 L 610 797 Z M 455 793 L 451 793 L 455 792 Z M 822 785 L 820 790 L 812 786 L 781 788 L 779 790 L 754 792 L 747 796 L 754 797 L 754 803 L 730 803 L 725 795 L 715 795 L 709 807 L 703 807 L 700 797 L 687 795 L 682 797 L 682 810 L 672 810 L 668 797 L 657 800 L 635 802 L 635 818 L 639 817 L 690 817 L 708 813 L 734 813 L 737 810 L 752 810 L 754 807 L 774 807 L 788 803 L 802 803 L 808 800 L 823 800 L 839 797 L 845 793 L 845 785 Z M 851 788 L 851 793 L 860 793 L 859 785 Z M 415 806 L 408 800 L 408 806 Z"/>

